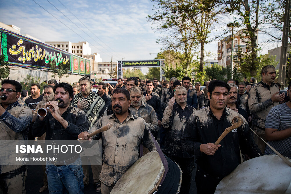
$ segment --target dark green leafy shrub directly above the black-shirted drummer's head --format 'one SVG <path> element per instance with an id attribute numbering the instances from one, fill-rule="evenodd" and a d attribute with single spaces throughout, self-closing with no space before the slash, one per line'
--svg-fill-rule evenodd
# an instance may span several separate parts
<path id="1" fill-rule="evenodd" d="M 211 80 L 218 79 L 222 81 L 227 81 L 227 72 L 229 70 L 225 67 L 222 67 L 221 65 L 214 64 L 211 67 L 205 68 L 205 73 Z"/>

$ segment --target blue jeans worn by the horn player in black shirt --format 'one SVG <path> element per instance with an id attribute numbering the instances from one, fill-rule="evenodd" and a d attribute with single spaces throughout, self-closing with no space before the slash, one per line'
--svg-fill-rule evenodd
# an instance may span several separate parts
<path id="1" fill-rule="evenodd" d="M 55 166 L 47 161 L 46 165 L 47 183 L 49 193 L 70 194 L 84 193 L 82 161 L 79 157 L 71 164 Z"/>

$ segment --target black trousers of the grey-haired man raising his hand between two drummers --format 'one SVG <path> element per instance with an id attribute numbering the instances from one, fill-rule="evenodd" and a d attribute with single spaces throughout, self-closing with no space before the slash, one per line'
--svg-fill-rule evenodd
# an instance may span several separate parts
<path id="1" fill-rule="evenodd" d="M 191 186 L 191 176 L 194 167 L 194 158 L 179 158 L 170 156 L 171 160 L 175 161 L 182 170 L 182 184 L 180 193 L 189 193 Z"/>

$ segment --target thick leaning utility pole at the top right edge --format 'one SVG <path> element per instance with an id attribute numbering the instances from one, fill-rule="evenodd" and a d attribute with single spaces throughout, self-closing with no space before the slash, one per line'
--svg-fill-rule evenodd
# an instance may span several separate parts
<path id="1" fill-rule="evenodd" d="M 282 37 L 282 46 L 281 46 L 281 57 L 280 57 L 280 69 L 279 69 L 279 83 L 283 85 L 283 87 L 285 87 L 285 76 L 286 76 L 286 66 L 287 66 L 290 2 L 291 0 L 286 0 L 284 25 L 283 25 L 283 37 Z"/>

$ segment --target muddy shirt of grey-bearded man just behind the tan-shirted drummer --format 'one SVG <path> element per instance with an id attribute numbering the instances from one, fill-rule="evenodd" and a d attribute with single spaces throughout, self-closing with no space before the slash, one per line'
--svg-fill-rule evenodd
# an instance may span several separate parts
<path id="1" fill-rule="evenodd" d="M 143 120 L 145 120 L 145 122 L 149 124 L 148 128 L 152 133 L 158 132 L 158 119 L 156 112 L 154 108 L 152 108 L 152 106 L 141 102 L 141 106 L 139 107 L 139 109 L 134 108 L 132 104 L 128 109 L 133 115 L 143 118 Z"/>

